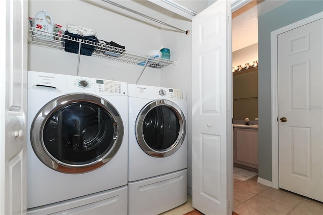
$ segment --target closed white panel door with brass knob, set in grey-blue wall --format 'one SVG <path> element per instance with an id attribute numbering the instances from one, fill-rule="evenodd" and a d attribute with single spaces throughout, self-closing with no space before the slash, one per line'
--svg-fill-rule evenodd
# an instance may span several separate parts
<path id="1" fill-rule="evenodd" d="M 323 201 L 322 26 L 320 19 L 278 35 L 279 187 L 319 201 Z"/>

